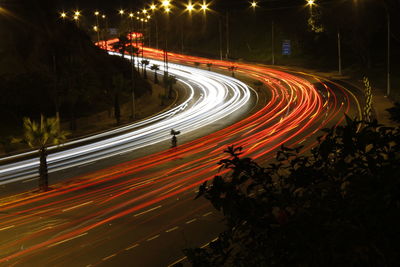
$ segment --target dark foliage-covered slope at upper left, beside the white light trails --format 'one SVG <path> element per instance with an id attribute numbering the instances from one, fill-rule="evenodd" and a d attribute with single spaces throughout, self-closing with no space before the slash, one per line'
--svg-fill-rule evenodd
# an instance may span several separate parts
<path id="1" fill-rule="evenodd" d="M 0 16 L 0 119 L 6 127 L 39 114 L 75 119 L 112 108 L 112 77 L 131 79 L 128 61 L 108 56 L 73 22 L 57 17 L 54 1 L 6 3 Z M 139 75 L 137 75 L 139 76 Z M 137 80 L 137 96 L 150 91 Z M 129 99 L 130 87 L 121 99 Z"/>

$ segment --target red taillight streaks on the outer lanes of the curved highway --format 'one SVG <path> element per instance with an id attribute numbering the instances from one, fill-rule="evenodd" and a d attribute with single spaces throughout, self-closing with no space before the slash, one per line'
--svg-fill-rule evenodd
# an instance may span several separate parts
<path id="1" fill-rule="evenodd" d="M 150 54 L 149 57 L 152 55 Z M 157 53 L 154 57 L 157 57 Z M 176 57 L 171 55 L 170 58 L 176 62 L 202 60 L 181 55 L 176 55 Z M 214 65 L 224 66 L 223 64 L 230 63 L 216 61 Z M 171 66 L 173 65 L 171 64 Z M 270 158 L 272 157 L 271 152 L 280 145 L 295 146 L 314 135 L 318 129 L 324 128 L 328 123 L 333 125 L 340 123 L 343 120 L 342 112 L 348 113 L 350 103 L 356 102 L 356 99 L 350 97 L 342 87 L 328 86 L 317 78 L 312 78 L 316 83 L 311 84 L 306 79 L 266 67 L 240 64 L 239 68 L 246 75 L 253 76 L 268 86 L 271 97 L 264 107 L 234 125 L 183 144 L 178 149 L 162 151 L 122 163 L 86 175 L 79 182 L 64 185 L 51 192 L 36 197 L 15 199 L 0 205 L 0 212 L 18 208 L 18 213 L 0 215 L 0 229 L 10 225 L 24 227 L 34 224 L 39 221 L 37 214 L 53 217 L 69 207 L 79 207 L 75 211 L 84 209 L 78 218 L 55 221 L 51 229 L 37 226 L 39 231 L 35 233 L 25 232 L 19 239 L 1 243 L 0 251 L 7 252 L 5 254 L 0 252 L 0 257 L 3 257 L 0 258 L 0 262 L 15 258 L 22 259 L 20 258 L 22 256 L 28 256 L 23 258 L 24 261 L 27 261 L 29 255 L 43 252 L 53 244 L 89 232 L 88 235 L 79 239 L 80 242 L 84 242 L 82 240 L 90 238 L 92 229 L 119 218 L 127 220 L 128 215 L 132 226 L 126 227 L 124 231 L 131 231 L 135 227 L 133 223 L 135 219 L 131 215 L 152 205 L 160 205 L 160 202 L 178 194 L 187 193 L 204 181 L 212 179 L 218 168 L 216 162 L 222 156 L 222 147 L 228 144 L 244 145 L 244 156 L 251 156 L 255 159 Z M 234 80 L 230 80 L 226 86 L 230 82 L 234 82 Z M 319 92 L 315 84 L 322 84 L 324 88 L 322 90 L 325 92 Z M 221 88 L 224 86 L 222 85 Z M 331 87 L 335 87 L 335 91 Z M 321 93 L 325 93 L 328 97 L 322 97 Z M 206 98 L 212 93 L 203 91 L 202 94 Z M 226 90 L 225 93 L 218 96 L 226 98 Z M 241 97 L 234 96 L 232 99 Z M 341 101 L 338 100 L 338 97 L 345 99 L 347 105 L 339 105 L 338 103 Z M 327 101 L 330 104 L 326 104 Z M 207 106 L 207 103 L 197 104 L 203 105 L 203 107 Z M 217 110 L 215 113 L 218 113 Z M 179 115 L 181 113 L 177 112 L 175 116 Z M 213 116 L 214 113 L 209 115 Z M 205 118 L 192 114 L 192 119 L 201 121 Z M 151 143 L 151 141 L 149 142 Z M 310 146 L 307 145 L 307 147 Z M 177 158 L 184 158 L 186 161 L 178 166 L 168 165 Z M 155 166 L 162 166 L 162 170 L 157 168 L 151 171 Z M 224 170 L 220 174 L 223 175 L 226 172 Z M 91 187 L 96 189 L 82 190 Z M 90 201 L 94 201 L 96 204 L 79 206 Z M 107 204 L 107 206 L 104 207 L 103 204 Z M 43 209 L 46 210 L 43 211 Z M 122 235 L 124 231 L 119 235 Z M 58 234 L 60 232 L 62 234 Z M 32 245 L 20 251 L 19 245 L 28 241 L 32 242 Z M 92 239 L 91 242 L 100 241 Z M 71 248 L 71 250 L 78 253 L 80 248 Z"/>

